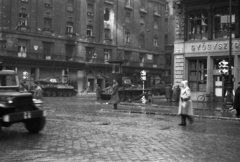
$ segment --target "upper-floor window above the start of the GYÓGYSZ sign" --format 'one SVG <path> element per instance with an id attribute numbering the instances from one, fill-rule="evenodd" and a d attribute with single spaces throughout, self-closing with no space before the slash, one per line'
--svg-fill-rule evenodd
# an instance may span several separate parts
<path id="1" fill-rule="evenodd" d="M 188 39 L 189 40 L 208 39 L 207 10 L 196 10 L 189 12 Z"/>

